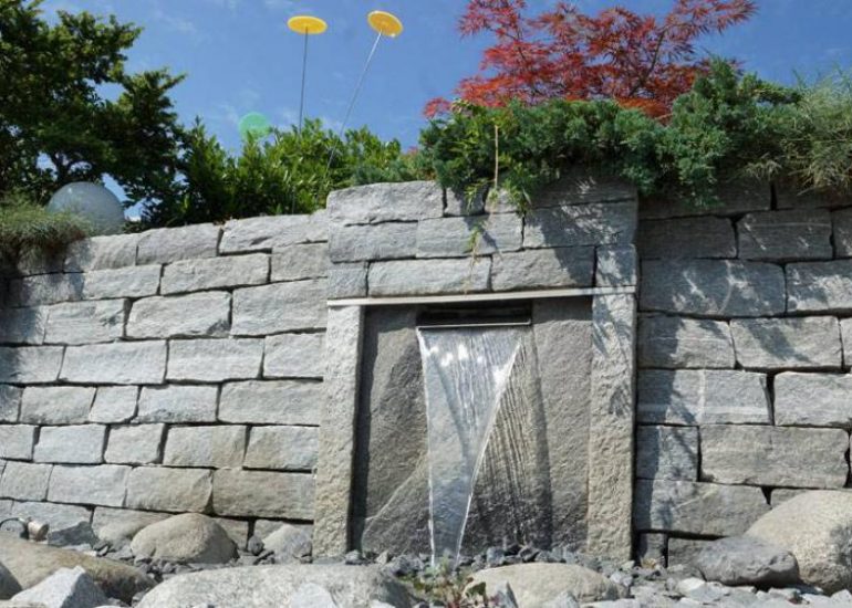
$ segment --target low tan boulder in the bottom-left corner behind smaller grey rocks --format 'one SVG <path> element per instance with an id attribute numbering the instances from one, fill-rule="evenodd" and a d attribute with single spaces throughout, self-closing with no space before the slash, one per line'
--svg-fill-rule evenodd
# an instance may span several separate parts
<path id="1" fill-rule="evenodd" d="M 34 587 L 61 568 L 76 566 L 82 567 L 106 595 L 126 602 L 154 585 L 139 570 L 120 562 L 21 541 L 11 534 L 0 534 L 0 563 L 24 589 Z"/>

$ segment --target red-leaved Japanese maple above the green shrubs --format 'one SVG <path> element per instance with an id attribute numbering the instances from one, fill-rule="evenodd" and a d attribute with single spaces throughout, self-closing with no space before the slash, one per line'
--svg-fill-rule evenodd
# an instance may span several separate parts
<path id="1" fill-rule="evenodd" d="M 613 98 L 659 116 L 706 69 L 696 39 L 745 21 L 755 10 L 754 0 L 674 0 L 663 17 L 622 7 L 592 17 L 559 1 L 529 15 L 526 0 L 469 0 L 459 23 L 463 35 L 490 33 L 496 40 L 480 73 L 464 78 L 456 94 L 486 106 Z M 448 107 L 437 98 L 425 112 Z"/>

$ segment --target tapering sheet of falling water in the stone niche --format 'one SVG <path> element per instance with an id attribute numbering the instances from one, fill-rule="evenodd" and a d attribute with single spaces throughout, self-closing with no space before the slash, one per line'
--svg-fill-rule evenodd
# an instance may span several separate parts
<path id="1" fill-rule="evenodd" d="M 426 387 L 433 565 L 441 556 L 458 558 L 477 474 L 522 336 L 521 328 L 510 326 L 417 331 Z"/>

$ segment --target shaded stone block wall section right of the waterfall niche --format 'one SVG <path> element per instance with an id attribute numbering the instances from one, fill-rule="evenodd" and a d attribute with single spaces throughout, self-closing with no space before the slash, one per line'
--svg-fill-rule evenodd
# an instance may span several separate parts
<path id="1" fill-rule="evenodd" d="M 634 525 L 672 563 L 850 474 L 852 200 L 723 198 L 640 208 Z"/>

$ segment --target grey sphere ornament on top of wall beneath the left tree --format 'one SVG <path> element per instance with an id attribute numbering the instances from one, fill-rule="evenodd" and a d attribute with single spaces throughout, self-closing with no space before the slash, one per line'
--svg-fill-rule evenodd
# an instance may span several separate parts
<path id="1" fill-rule="evenodd" d="M 118 197 L 100 184 L 66 184 L 51 197 L 48 210 L 82 217 L 95 234 L 116 234 L 124 230 L 124 208 Z"/>

